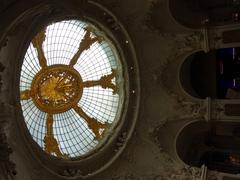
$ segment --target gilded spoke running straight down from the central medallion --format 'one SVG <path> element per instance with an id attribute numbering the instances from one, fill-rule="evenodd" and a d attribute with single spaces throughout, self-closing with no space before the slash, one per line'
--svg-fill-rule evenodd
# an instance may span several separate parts
<path id="1" fill-rule="evenodd" d="M 53 135 L 53 115 L 47 114 L 46 121 L 47 132 L 44 137 L 45 151 L 49 154 L 55 153 L 57 157 L 65 157 L 59 149 L 59 144 Z"/>

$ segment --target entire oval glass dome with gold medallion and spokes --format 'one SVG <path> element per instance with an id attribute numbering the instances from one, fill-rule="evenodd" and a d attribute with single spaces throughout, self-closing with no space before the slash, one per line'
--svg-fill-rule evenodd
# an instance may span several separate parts
<path id="1" fill-rule="evenodd" d="M 20 76 L 20 103 L 33 140 L 60 158 L 103 145 L 120 120 L 122 74 L 113 43 L 93 24 L 46 26 L 30 43 Z"/>

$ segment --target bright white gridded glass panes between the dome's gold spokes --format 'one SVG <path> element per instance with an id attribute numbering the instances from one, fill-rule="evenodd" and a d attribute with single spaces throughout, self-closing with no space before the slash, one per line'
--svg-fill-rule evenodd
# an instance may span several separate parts
<path id="1" fill-rule="evenodd" d="M 110 136 L 121 116 L 124 101 L 122 65 L 113 43 L 104 32 L 94 25 L 79 20 L 65 20 L 50 24 L 46 27 L 45 40 L 42 49 L 47 60 L 47 66 L 69 65 L 70 60 L 79 49 L 79 44 L 91 27 L 91 38 L 101 36 L 101 42 L 94 42 L 84 50 L 73 68 L 80 74 L 82 81 L 98 81 L 102 77 L 116 71 L 112 84 L 117 88 L 104 88 L 101 85 L 84 87 L 78 107 L 91 118 L 110 126 L 104 137 L 96 139 L 96 134 L 89 128 L 86 119 L 79 115 L 74 108 L 65 112 L 53 113 L 53 135 L 57 140 L 61 153 L 68 158 L 83 156 L 96 149 Z M 30 43 L 25 54 L 21 76 L 20 94 L 32 89 L 32 82 L 41 71 L 37 48 Z M 44 137 L 47 133 L 46 121 L 49 112 L 39 109 L 33 98 L 20 100 L 22 112 L 27 128 L 34 141 L 44 150 Z M 99 129 L 99 133 L 102 133 Z M 55 153 L 51 155 L 57 156 Z"/>

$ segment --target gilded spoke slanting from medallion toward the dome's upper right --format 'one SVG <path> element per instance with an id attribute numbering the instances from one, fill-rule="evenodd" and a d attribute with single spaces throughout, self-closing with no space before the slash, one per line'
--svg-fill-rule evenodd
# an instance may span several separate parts
<path id="1" fill-rule="evenodd" d="M 78 59 L 81 56 L 83 51 L 89 49 L 91 47 L 91 45 L 94 44 L 95 42 L 99 42 L 99 43 L 102 42 L 102 40 L 103 40 L 102 37 L 98 37 L 98 36 L 93 37 L 93 38 L 91 37 L 91 33 L 93 33 L 93 31 L 94 30 L 91 27 L 86 28 L 86 33 L 85 33 L 85 35 L 84 35 L 84 37 L 83 37 L 83 39 L 82 39 L 82 41 L 79 45 L 78 51 L 70 61 L 69 65 L 71 67 L 73 67 L 77 63 L 77 61 L 78 61 Z"/>

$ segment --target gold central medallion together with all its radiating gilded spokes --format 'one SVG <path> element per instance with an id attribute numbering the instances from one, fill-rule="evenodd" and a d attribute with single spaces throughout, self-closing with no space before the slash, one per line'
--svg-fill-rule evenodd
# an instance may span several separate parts
<path id="1" fill-rule="evenodd" d="M 95 139 L 100 140 L 104 137 L 104 133 L 110 127 L 110 124 L 88 116 L 78 105 L 78 102 L 82 97 L 84 88 L 101 86 L 104 89 L 111 89 L 113 94 L 118 91 L 117 85 L 113 82 L 117 76 L 116 70 L 112 69 L 110 74 L 102 76 L 99 80 L 83 81 L 79 72 L 74 69 L 74 65 L 83 51 L 88 50 L 94 43 L 101 43 L 104 40 L 103 37 L 95 35 L 92 27 L 87 27 L 85 30 L 79 49 L 70 59 L 69 65 L 55 64 L 51 66 L 47 65 L 43 50 L 46 29 L 39 32 L 32 40 L 32 44 L 36 49 L 41 70 L 35 75 L 31 89 L 20 93 L 21 100 L 31 99 L 39 110 L 47 113 L 44 150 L 61 158 L 68 156 L 61 152 L 58 140 L 54 137 L 53 115 L 73 109 L 85 120 L 88 128 L 95 135 Z"/>

